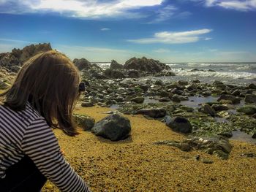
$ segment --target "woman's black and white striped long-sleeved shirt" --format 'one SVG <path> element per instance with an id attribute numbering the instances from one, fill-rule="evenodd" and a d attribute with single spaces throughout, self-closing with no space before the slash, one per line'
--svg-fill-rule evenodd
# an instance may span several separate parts
<path id="1" fill-rule="evenodd" d="M 59 143 L 39 113 L 29 102 L 26 110 L 15 112 L 0 105 L 0 180 L 5 170 L 29 155 L 45 177 L 61 191 L 89 191 L 60 152 Z"/>

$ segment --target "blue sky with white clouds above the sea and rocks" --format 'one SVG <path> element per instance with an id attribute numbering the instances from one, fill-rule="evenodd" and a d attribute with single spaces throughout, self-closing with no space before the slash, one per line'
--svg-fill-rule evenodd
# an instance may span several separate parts
<path id="1" fill-rule="evenodd" d="M 0 26 L 0 53 L 50 42 L 89 61 L 256 61 L 256 0 L 0 0 Z"/>

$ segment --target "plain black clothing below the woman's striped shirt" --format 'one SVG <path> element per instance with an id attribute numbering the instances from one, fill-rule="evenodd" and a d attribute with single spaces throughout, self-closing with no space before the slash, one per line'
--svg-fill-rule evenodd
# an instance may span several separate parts
<path id="1" fill-rule="evenodd" d="M 4 179 L 0 178 L 0 191 L 39 192 L 46 180 L 34 162 L 25 155 L 17 164 L 7 169 Z"/>

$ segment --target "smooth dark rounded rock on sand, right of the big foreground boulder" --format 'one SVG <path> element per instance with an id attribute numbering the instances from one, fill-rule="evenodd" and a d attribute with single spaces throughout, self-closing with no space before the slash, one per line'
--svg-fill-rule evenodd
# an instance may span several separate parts
<path id="1" fill-rule="evenodd" d="M 170 122 L 166 123 L 166 125 L 172 128 L 173 131 L 181 132 L 183 134 L 192 132 L 192 126 L 187 118 L 174 117 L 171 118 Z"/>

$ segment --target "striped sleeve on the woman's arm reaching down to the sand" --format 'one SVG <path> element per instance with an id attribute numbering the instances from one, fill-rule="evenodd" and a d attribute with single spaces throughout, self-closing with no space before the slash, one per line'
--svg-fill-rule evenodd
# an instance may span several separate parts
<path id="1" fill-rule="evenodd" d="M 39 171 L 61 191 L 90 191 L 64 159 L 53 131 L 43 118 L 37 118 L 26 128 L 21 147 Z"/>

